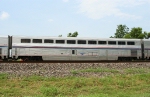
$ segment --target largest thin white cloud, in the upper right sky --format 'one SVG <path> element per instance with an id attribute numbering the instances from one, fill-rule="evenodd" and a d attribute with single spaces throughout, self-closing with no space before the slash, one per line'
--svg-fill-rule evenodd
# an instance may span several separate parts
<path id="1" fill-rule="evenodd" d="M 130 9 L 150 0 L 78 0 L 79 13 L 92 19 L 101 19 L 106 16 L 116 16 L 128 19 L 140 19 L 141 16 L 123 12 L 121 9 Z"/>

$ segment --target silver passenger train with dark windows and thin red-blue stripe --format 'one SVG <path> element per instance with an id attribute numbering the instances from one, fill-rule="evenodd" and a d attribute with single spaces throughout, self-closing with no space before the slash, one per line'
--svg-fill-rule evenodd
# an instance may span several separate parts
<path id="1" fill-rule="evenodd" d="M 150 59 L 150 40 L 0 36 L 0 59 L 24 61 Z"/>

